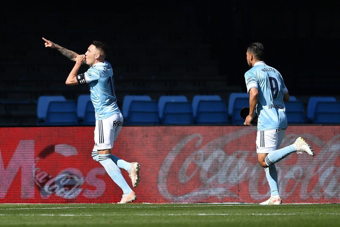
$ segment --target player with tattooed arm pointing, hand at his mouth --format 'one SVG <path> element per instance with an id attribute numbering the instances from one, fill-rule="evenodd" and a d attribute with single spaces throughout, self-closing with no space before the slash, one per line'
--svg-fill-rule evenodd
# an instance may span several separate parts
<path id="1" fill-rule="evenodd" d="M 136 199 L 136 193 L 126 183 L 119 168 L 129 172 L 133 187 L 137 187 L 140 180 L 139 164 L 126 162 L 111 154 L 113 142 L 123 124 L 123 116 L 116 103 L 112 67 L 104 60 L 107 55 L 107 45 L 94 41 L 85 54 L 79 55 L 45 38 L 43 40 L 45 40 L 45 47 L 55 48 L 75 62 L 67 77 L 67 85 L 88 84 L 96 113 L 95 146 L 92 150 L 92 158 L 103 165 L 107 174 L 123 190 L 119 203 L 132 202 Z M 90 68 L 85 73 L 77 75 L 83 63 Z"/>

